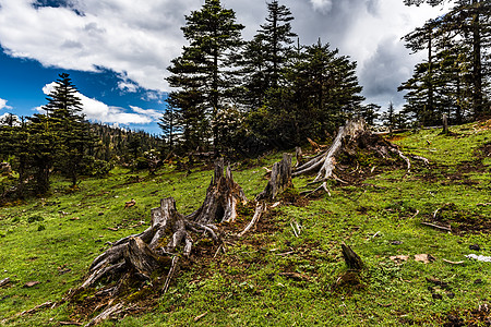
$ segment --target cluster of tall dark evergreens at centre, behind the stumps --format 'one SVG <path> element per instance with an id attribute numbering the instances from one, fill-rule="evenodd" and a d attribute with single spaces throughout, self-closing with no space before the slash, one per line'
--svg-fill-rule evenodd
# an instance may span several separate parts
<path id="1" fill-rule="evenodd" d="M 325 138 L 354 114 L 373 120 L 376 107 L 361 106 L 356 63 L 321 40 L 300 45 L 292 20 L 268 2 L 265 23 L 244 41 L 219 0 L 185 16 L 189 45 L 168 68 L 175 90 L 160 123 L 171 150 L 256 155 Z"/>

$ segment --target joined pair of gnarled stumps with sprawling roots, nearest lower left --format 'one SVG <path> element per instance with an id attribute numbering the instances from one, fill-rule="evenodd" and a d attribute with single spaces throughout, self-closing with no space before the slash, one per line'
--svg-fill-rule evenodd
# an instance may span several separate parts
<path id="1" fill-rule="evenodd" d="M 151 226 L 139 234 L 112 243 L 110 249 L 94 259 L 87 278 L 72 293 L 73 296 L 96 284 L 106 284 L 97 293 L 109 294 L 111 300 L 89 324 L 123 311 L 124 296 L 118 295 L 127 294 L 130 286 L 140 289 L 145 282 L 152 284 L 156 280 L 165 280 L 160 288 L 165 293 L 178 269 L 179 257 L 190 256 L 193 238 L 211 238 L 221 243 L 216 223 L 233 221 L 239 202 L 247 202 L 247 198 L 242 189 L 233 182 L 230 169 L 227 168 L 224 173 L 223 159 L 216 162 L 205 201 L 194 213 L 183 216 L 177 211 L 172 197 L 161 199 L 160 206 L 152 209 Z"/>

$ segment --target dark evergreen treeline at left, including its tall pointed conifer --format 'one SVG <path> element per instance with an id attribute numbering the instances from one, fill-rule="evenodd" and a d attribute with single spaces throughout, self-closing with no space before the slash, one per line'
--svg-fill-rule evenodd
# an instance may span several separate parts
<path id="1" fill-rule="evenodd" d="M 44 113 L 20 120 L 10 114 L 0 122 L 0 159 L 17 174 L 14 195 L 47 193 L 55 172 L 75 187 L 82 174 L 105 174 L 113 164 L 148 168 L 155 162 L 160 138 L 91 124 L 82 114 L 77 92 L 69 74 L 60 74 Z M 7 194 L 5 185 L 0 186 L 0 195 Z"/>

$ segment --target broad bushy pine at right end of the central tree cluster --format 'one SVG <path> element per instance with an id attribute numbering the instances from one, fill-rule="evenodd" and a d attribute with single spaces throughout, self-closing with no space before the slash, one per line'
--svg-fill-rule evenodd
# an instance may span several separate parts
<path id="1" fill-rule="evenodd" d="M 359 112 L 364 99 L 356 63 L 321 41 L 298 47 L 284 78 L 285 85 L 272 88 L 265 107 L 249 118 L 254 133 L 275 147 L 325 138 Z"/>

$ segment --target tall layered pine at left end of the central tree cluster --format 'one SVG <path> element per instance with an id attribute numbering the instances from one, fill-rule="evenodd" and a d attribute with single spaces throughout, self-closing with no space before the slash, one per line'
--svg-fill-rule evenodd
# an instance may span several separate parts
<path id="1" fill-rule="evenodd" d="M 206 124 L 212 126 L 217 154 L 219 136 L 215 120 L 224 105 L 232 102 L 236 96 L 235 66 L 243 44 L 243 25 L 236 23 L 236 13 L 224 9 L 219 0 L 205 0 L 201 10 L 191 12 L 185 21 L 181 29 L 189 46 L 168 69 L 172 75 L 167 81 L 179 88 L 169 95 L 169 104 L 182 112 L 184 138 L 193 137 Z M 201 140 L 203 136 L 199 135 Z"/>

